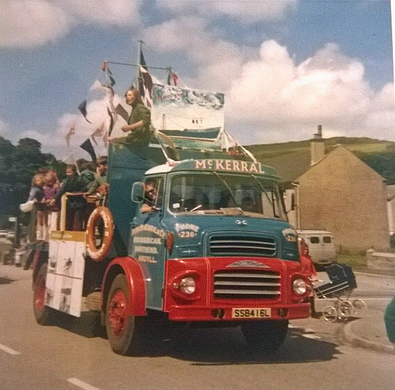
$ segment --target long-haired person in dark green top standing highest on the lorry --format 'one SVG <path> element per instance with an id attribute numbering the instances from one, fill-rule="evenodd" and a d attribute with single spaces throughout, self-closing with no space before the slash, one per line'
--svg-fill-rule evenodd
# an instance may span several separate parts
<path id="1" fill-rule="evenodd" d="M 117 140 L 117 142 L 129 143 L 137 140 L 147 144 L 150 138 L 151 112 L 141 100 L 141 95 L 137 89 L 128 89 L 125 93 L 126 104 L 132 106 L 127 125 L 122 126 L 124 133 L 129 133 L 127 137 Z"/>

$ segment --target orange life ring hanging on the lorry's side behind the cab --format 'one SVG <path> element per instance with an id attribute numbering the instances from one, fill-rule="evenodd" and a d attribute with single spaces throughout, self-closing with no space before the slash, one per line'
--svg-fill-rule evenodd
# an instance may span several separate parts
<path id="1" fill-rule="evenodd" d="M 95 226 L 99 219 L 103 220 L 104 232 L 102 245 L 97 248 L 95 243 Z M 113 234 L 114 222 L 111 211 L 104 206 L 98 206 L 93 210 L 88 219 L 85 233 L 86 250 L 93 261 L 101 262 L 106 258 L 107 253 L 109 253 L 111 242 L 113 241 Z"/>

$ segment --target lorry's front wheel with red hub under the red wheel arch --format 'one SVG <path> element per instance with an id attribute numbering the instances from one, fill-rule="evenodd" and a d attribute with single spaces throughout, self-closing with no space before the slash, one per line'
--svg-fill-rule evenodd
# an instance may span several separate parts
<path id="1" fill-rule="evenodd" d="M 141 347 L 141 321 L 130 316 L 130 292 L 124 274 L 113 280 L 106 303 L 106 332 L 116 354 L 137 354 Z"/>

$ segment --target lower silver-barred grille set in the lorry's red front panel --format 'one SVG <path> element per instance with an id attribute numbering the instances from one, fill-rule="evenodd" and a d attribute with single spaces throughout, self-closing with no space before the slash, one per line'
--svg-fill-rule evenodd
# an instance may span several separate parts
<path id="1" fill-rule="evenodd" d="M 214 274 L 214 297 L 223 299 L 269 299 L 280 295 L 281 276 L 268 270 L 223 270 Z"/>

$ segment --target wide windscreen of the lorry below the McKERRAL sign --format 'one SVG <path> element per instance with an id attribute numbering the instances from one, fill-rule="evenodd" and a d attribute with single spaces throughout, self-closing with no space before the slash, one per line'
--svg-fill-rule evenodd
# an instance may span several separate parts
<path id="1" fill-rule="evenodd" d="M 221 173 L 177 175 L 172 179 L 172 213 L 218 213 L 242 210 L 244 215 L 286 219 L 277 182 L 259 177 Z"/>

